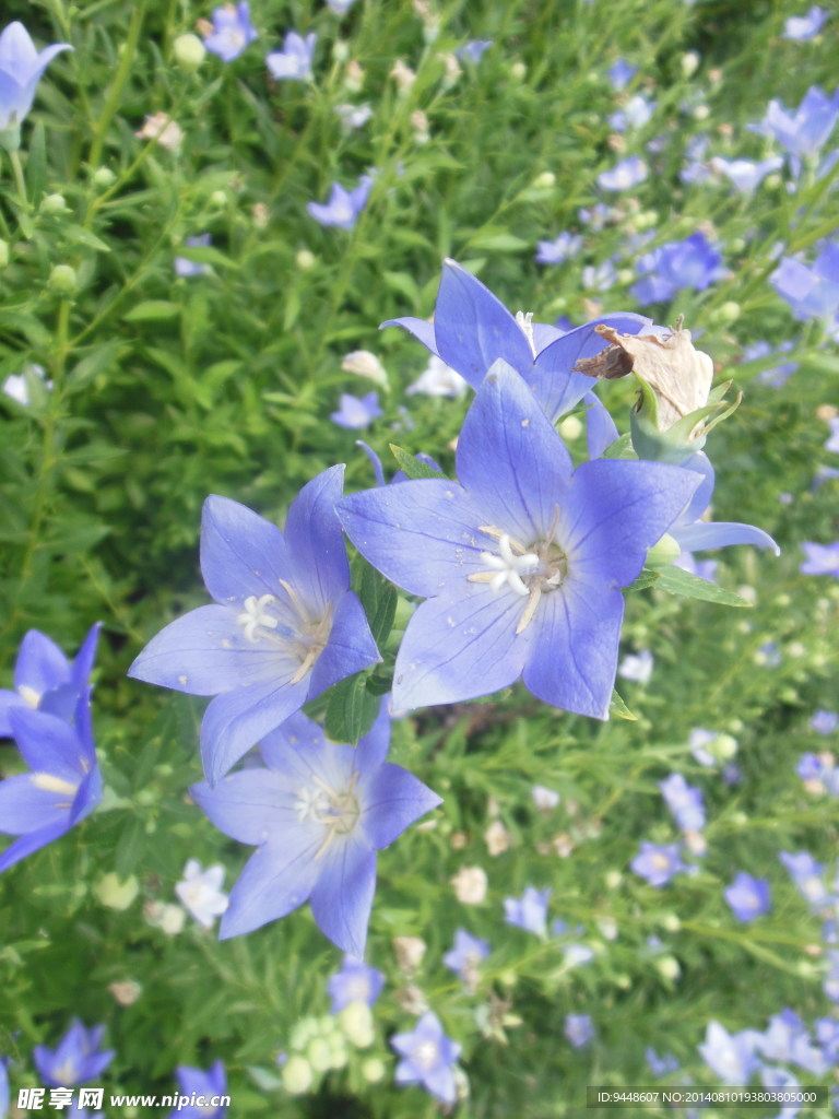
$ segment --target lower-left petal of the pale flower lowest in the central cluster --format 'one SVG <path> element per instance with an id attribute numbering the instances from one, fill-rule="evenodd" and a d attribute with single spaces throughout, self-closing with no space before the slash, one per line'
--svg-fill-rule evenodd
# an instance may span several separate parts
<path id="1" fill-rule="evenodd" d="M 314 857 L 320 839 L 311 828 L 294 827 L 254 852 L 230 891 L 219 940 L 252 932 L 302 905 L 321 872 Z"/>

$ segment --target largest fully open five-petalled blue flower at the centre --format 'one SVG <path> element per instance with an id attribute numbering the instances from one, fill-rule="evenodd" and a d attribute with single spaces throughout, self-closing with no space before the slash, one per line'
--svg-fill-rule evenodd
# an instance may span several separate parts
<path id="1" fill-rule="evenodd" d="M 461 482 L 346 498 L 361 554 L 424 602 L 396 658 L 396 709 L 487 695 L 524 676 L 545 703 L 606 718 L 623 598 L 698 485 L 618 459 L 576 471 L 524 380 L 500 363 L 458 441 Z"/>

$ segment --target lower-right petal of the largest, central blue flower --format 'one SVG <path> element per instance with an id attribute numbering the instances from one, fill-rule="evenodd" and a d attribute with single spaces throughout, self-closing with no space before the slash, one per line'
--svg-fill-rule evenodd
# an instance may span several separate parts
<path id="1" fill-rule="evenodd" d="M 526 687 L 554 707 L 609 718 L 622 620 L 623 596 L 606 586 L 572 577 L 543 595 Z"/>

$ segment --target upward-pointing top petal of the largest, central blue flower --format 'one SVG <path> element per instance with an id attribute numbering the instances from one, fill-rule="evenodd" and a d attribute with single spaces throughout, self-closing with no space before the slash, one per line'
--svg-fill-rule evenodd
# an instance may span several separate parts
<path id="1" fill-rule="evenodd" d="M 571 479 L 571 455 L 518 374 L 487 376 L 458 441 L 458 478 L 480 508 L 479 524 L 527 546 L 553 523 Z"/>

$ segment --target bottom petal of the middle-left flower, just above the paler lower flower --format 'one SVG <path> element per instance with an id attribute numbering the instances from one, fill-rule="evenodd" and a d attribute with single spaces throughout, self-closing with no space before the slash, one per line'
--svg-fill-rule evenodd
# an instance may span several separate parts
<path id="1" fill-rule="evenodd" d="M 291 678 L 253 684 L 225 692 L 211 700 L 201 723 L 201 760 L 210 784 L 268 731 L 275 730 L 305 703 L 308 679 Z"/>

